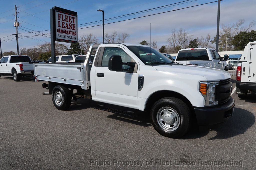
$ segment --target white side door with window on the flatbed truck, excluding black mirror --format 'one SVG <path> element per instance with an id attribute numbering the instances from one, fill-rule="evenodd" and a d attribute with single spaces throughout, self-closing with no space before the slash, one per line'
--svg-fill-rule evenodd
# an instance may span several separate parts
<path id="1" fill-rule="evenodd" d="M 135 62 L 131 54 L 121 46 L 102 46 L 95 69 L 96 101 L 137 108 L 139 65 L 136 63 L 133 73 L 111 71 L 108 64 L 112 55 L 120 55 L 123 63 Z M 130 66 L 122 65 L 122 67 L 125 69 Z"/>

